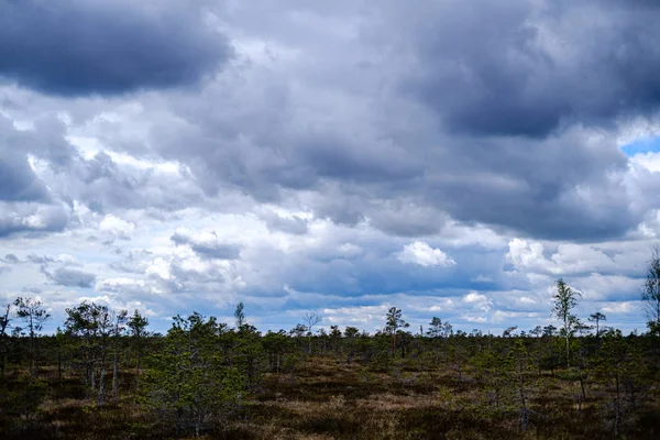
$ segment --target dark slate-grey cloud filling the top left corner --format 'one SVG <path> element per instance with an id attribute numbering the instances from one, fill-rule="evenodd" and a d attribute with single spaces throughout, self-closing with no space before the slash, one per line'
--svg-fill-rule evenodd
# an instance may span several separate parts
<path id="1" fill-rule="evenodd" d="M 231 56 L 200 2 L 0 3 L 0 76 L 63 96 L 196 82 Z"/>

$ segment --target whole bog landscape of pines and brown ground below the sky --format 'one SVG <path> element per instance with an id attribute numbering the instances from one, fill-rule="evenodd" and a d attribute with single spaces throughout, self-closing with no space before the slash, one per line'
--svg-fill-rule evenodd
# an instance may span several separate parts
<path id="1" fill-rule="evenodd" d="M 34 298 L 0 315 L 3 439 L 660 438 L 660 255 L 641 295 L 648 331 L 624 336 L 556 283 L 558 327 L 501 336 L 410 330 L 392 307 L 374 334 L 320 326 L 261 333 L 198 312 L 165 334 L 139 310 L 82 301 L 54 334 Z"/>

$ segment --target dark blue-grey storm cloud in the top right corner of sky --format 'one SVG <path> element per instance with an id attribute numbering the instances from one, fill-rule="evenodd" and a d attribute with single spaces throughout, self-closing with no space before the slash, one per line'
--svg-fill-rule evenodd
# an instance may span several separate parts
<path id="1" fill-rule="evenodd" d="M 452 131 L 544 136 L 660 108 L 657 2 L 422 4 L 394 8 L 416 55 L 404 84 Z"/>

